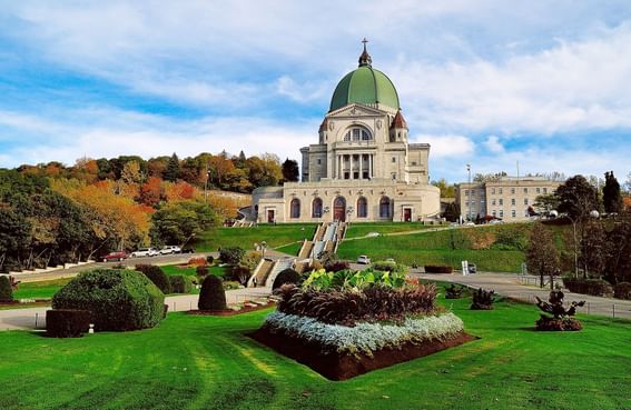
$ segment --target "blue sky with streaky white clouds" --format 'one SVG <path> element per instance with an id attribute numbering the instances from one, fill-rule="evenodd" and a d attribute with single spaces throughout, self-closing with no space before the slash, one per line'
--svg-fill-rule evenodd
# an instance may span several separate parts
<path id="1" fill-rule="evenodd" d="M 631 171 L 628 0 L 0 0 L 0 168 L 299 160 L 364 37 L 431 179 Z"/>

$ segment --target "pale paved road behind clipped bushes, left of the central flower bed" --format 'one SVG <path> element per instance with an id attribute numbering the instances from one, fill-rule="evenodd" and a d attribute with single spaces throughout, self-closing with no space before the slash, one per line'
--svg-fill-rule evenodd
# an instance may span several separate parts
<path id="1" fill-rule="evenodd" d="M 231 304 L 268 296 L 267 288 L 235 289 L 226 291 L 226 301 Z M 167 297 L 165 303 L 169 306 L 169 312 L 181 312 L 197 309 L 198 298 L 197 294 L 180 294 Z M 46 311 L 49 309 L 50 307 L 0 310 L 0 330 L 46 329 Z"/>

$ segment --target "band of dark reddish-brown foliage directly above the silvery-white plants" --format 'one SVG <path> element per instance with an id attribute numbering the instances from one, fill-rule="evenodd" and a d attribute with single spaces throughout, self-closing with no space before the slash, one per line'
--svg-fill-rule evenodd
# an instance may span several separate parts
<path id="1" fill-rule="evenodd" d="M 436 288 L 418 284 L 407 288 L 374 286 L 356 289 L 300 289 L 283 284 L 278 310 L 287 314 L 315 318 L 325 323 L 354 326 L 358 321 L 392 320 L 403 322 L 410 314 L 434 311 Z"/>

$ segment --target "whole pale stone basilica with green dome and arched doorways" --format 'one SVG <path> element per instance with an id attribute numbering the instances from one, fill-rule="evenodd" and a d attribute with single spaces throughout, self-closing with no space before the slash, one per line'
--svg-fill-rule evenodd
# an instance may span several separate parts
<path id="1" fill-rule="evenodd" d="M 428 183 L 427 143 L 410 143 L 394 84 L 373 68 L 366 50 L 359 67 L 335 88 L 318 130 L 304 147 L 302 182 L 253 193 L 256 222 L 420 221 L 440 213 L 440 190 Z"/>

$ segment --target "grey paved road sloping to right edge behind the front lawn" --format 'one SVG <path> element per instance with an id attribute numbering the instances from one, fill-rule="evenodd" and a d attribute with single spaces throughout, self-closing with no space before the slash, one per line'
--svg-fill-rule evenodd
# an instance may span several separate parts
<path id="1" fill-rule="evenodd" d="M 521 283 L 519 274 L 514 273 L 489 273 L 481 272 L 463 277 L 461 273 L 452 274 L 432 274 L 432 273 L 414 273 L 423 279 L 441 280 L 445 282 L 454 282 L 465 284 L 472 288 L 492 289 L 495 293 L 517 299 L 529 303 L 535 303 L 534 297 L 548 300 L 550 289 L 540 289 L 539 287 L 525 286 Z M 531 281 L 532 283 L 532 281 Z M 579 313 L 600 314 L 605 317 L 631 319 L 631 300 L 620 300 L 610 298 L 599 298 L 588 294 L 565 293 L 565 302 L 584 300 L 585 307 L 579 309 Z"/>

